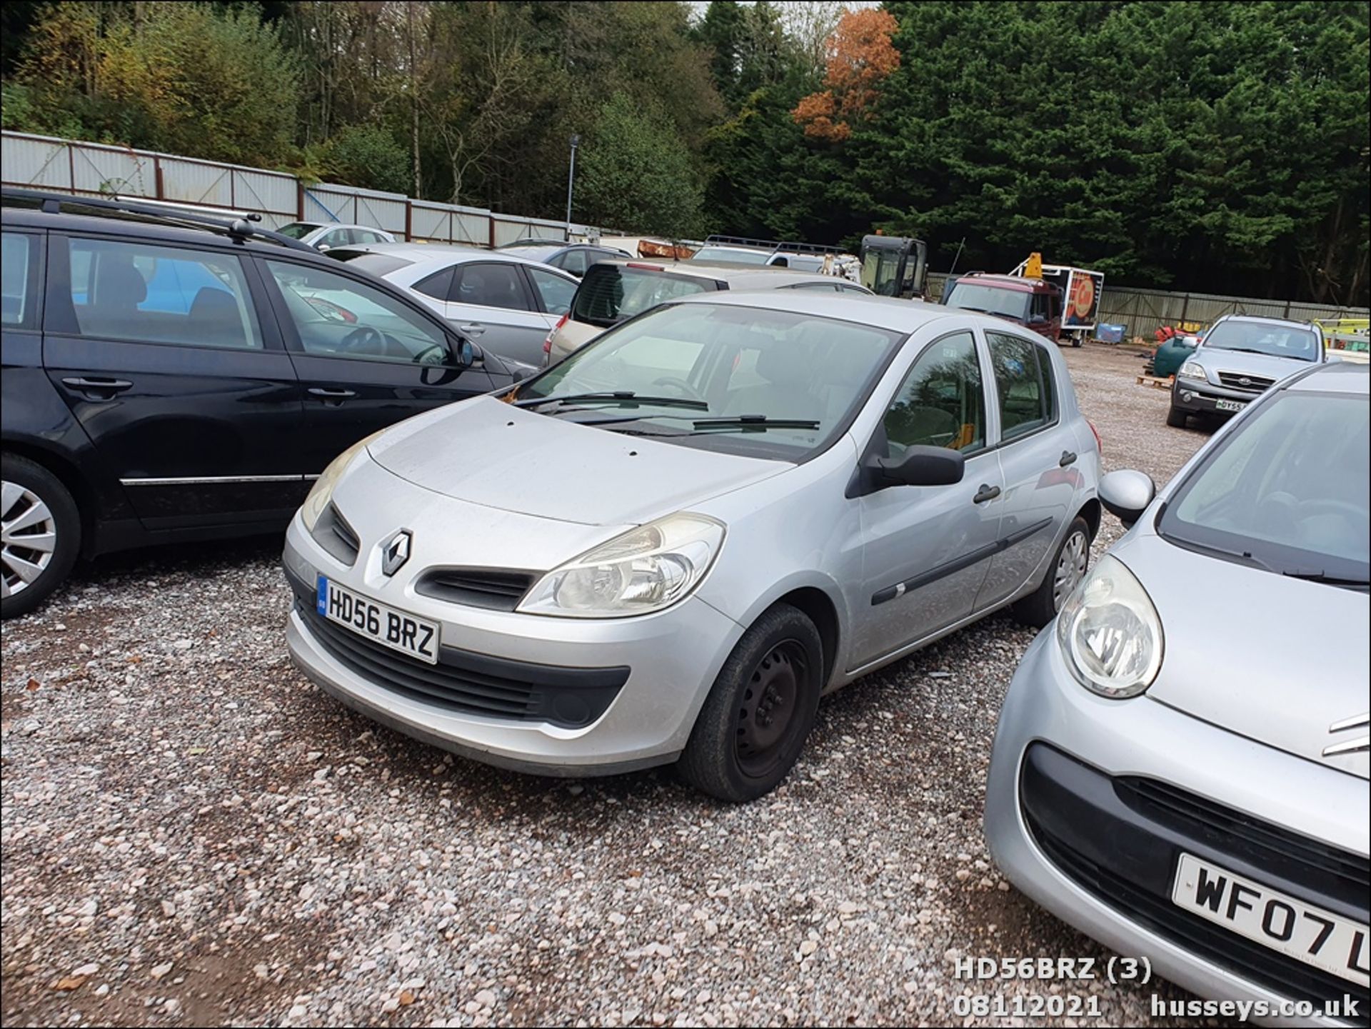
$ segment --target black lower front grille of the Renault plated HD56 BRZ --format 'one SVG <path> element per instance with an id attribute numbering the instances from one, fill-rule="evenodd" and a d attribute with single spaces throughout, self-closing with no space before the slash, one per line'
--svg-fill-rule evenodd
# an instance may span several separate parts
<path id="1" fill-rule="evenodd" d="M 429 665 L 328 621 L 304 584 L 287 577 L 295 610 L 335 660 L 373 685 L 435 707 L 574 729 L 605 714 L 628 681 L 627 666 L 570 669 L 455 647 L 440 647 L 437 665 Z"/>

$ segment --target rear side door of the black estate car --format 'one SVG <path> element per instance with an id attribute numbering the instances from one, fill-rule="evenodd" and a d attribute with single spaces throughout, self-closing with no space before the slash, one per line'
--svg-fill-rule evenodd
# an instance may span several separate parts
<path id="1" fill-rule="evenodd" d="M 226 247 L 49 237 L 44 366 L 148 529 L 289 517 L 300 384 Z"/>

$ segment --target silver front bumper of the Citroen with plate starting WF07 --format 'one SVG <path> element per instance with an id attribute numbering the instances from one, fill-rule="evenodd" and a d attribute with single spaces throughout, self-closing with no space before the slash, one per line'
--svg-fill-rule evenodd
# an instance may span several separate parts
<path id="1" fill-rule="evenodd" d="M 1187 914 L 1171 904 L 1169 884 L 1183 850 L 1366 921 L 1368 792 L 1364 780 L 1146 695 L 1089 693 L 1049 629 L 1026 654 L 999 715 L 986 839 L 1027 896 L 1116 952 L 1146 956 L 1186 989 L 1316 1007 L 1346 993 L 1363 1000 L 1359 1018 L 1257 1021 L 1364 1025 L 1366 987 Z M 1323 870 L 1309 874 L 1311 860 Z"/>

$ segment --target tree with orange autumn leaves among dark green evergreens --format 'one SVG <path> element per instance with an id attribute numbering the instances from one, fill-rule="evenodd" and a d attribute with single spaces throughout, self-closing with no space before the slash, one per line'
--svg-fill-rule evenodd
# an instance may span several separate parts
<path id="1" fill-rule="evenodd" d="M 876 86 L 899 67 L 899 51 L 891 37 L 899 23 L 890 11 L 847 11 L 828 40 L 828 67 L 818 93 L 803 97 L 791 111 L 805 134 L 820 140 L 851 136 L 847 119 L 869 116 Z"/>

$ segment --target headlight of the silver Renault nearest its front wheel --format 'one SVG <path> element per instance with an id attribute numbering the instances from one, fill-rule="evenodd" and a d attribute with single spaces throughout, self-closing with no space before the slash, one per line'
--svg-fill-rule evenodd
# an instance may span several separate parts
<path id="1" fill-rule="evenodd" d="M 723 544 L 723 522 L 699 514 L 668 515 L 553 569 L 518 610 L 562 618 L 625 618 L 661 611 L 705 578 Z"/>

